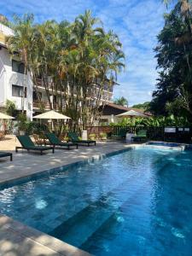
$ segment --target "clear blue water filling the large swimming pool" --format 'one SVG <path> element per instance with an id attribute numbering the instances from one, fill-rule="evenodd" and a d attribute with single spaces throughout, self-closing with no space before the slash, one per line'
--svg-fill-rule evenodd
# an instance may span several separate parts
<path id="1" fill-rule="evenodd" d="M 192 152 L 137 148 L 0 191 L 1 212 L 96 255 L 192 255 Z"/>

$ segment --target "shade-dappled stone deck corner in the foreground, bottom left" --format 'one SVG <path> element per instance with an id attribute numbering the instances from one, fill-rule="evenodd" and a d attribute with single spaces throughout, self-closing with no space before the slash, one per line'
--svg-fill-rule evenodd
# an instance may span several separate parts
<path id="1" fill-rule="evenodd" d="M 7 253 L 7 247 L 15 250 L 15 243 L 21 243 L 22 247 L 19 248 L 20 255 L 46 255 L 42 252 L 49 252 L 49 255 L 61 255 L 61 256 L 91 256 L 92 254 L 87 253 L 78 247 L 73 247 L 72 245 L 61 241 L 54 236 L 49 236 L 48 234 L 41 232 L 39 230 L 33 229 L 26 224 L 16 221 L 14 218 L 9 218 L 7 215 L 0 214 L 0 234 L 3 232 L 4 239 L 3 245 L 1 246 L 1 255 Z M 5 235 L 9 234 L 9 238 Z M 2 236 L 2 234 L 1 234 Z M 35 253 L 31 254 L 28 252 L 28 247 L 32 247 L 32 251 Z M 12 245 L 12 248 L 11 248 Z M 8 254 L 6 254 L 8 255 Z M 19 255 L 19 254 L 18 254 Z"/>

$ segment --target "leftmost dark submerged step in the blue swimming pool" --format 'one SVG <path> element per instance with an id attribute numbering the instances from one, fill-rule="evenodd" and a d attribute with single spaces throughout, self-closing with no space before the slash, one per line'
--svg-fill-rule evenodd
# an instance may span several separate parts
<path id="1" fill-rule="evenodd" d="M 108 193 L 108 196 L 103 196 L 100 200 L 85 207 L 72 218 L 63 222 L 49 235 L 73 244 L 73 246 L 80 247 L 102 224 L 107 222 L 115 212 L 119 211 L 119 207 L 137 195 L 137 191 L 143 188 L 146 183 L 148 183 L 147 177 L 143 178 L 139 184 L 137 183 L 137 185 L 130 188 L 125 181 L 119 188 L 113 189 L 113 191 Z M 113 192 L 115 192 L 115 196 L 118 198 L 116 201 L 113 201 Z"/>

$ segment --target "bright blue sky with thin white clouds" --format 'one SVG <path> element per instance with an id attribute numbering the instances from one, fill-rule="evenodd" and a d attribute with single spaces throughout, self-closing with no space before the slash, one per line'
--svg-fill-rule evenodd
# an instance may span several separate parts
<path id="1" fill-rule="evenodd" d="M 161 0 L 0 0 L 0 6 L 9 20 L 14 14 L 32 13 L 37 22 L 73 21 L 90 9 L 123 44 L 125 71 L 118 76 L 114 98 L 124 96 L 129 106 L 151 100 L 158 77 L 154 47 L 167 11 Z"/>

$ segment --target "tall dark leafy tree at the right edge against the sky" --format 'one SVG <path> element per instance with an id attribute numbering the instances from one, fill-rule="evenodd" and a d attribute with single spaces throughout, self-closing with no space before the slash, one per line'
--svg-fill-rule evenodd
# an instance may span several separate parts
<path id="1" fill-rule="evenodd" d="M 183 19 L 181 2 L 176 4 L 169 15 L 165 15 L 165 26 L 158 35 L 155 48 L 161 71 L 150 104 L 154 113 L 185 114 L 192 118 L 192 38 L 189 36 L 186 39 L 191 17 L 189 9 L 188 21 Z"/>

